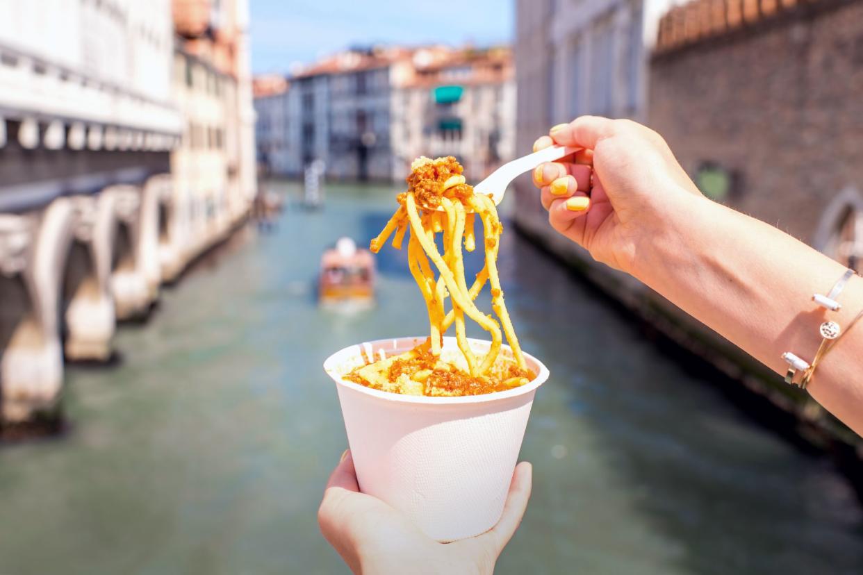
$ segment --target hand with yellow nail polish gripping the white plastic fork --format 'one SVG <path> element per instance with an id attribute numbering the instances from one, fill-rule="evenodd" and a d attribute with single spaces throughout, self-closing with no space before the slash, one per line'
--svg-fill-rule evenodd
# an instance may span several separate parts
<path id="1" fill-rule="evenodd" d="M 703 199 L 662 136 L 629 120 L 582 116 L 551 128 L 534 150 L 582 147 L 569 161 L 539 166 L 533 183 L 551 227 L 594 259 L 639 276 L 638 259 L 673 235 L 687 201 Z"/>

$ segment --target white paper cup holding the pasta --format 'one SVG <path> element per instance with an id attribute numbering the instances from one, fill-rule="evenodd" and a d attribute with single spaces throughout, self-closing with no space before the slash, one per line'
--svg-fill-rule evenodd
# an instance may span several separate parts
<path id="1" fill-rule="evenodd" d="M 403 353 L 424 337 L 345 347 L 324 362 L 336 382 L 344 427 L 363 493 L 399 509 L 425 534 L 456 541 L 485 533 L 501 518 L 533 396 L 548 370 L 525 353 L 530 383 L 478 396 L 407 396 L 342 378 L 367 357 Z M 477 353 L 489 342 L 469 340 Z M 457 349 L 444 337 L 444 350 Z M 502 346 L 510 353 L 508 346 Z"/>

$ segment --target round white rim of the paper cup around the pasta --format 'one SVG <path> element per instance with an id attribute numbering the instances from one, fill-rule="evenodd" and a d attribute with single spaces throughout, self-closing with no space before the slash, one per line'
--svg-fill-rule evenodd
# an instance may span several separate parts
<path id="1" fill-rule="evenodd" d="M 393 338 L 384 338 L 381 340 L 371 340 L 371 341 L 362 341 L 361 343 L 355 343 L 348 347 L 343 347 L 338 350 L 336 353 L 333 353 L 330 357 L 324 360 L 324 372 L 327 372 L 333 381 L 338 385 L 342 385 L 348 389 L 359 391 L 362 394 L 365 394 L 370 397 L 376 397 L 378 399 L 382 399 L 388 402 L 394 403 L 419 403 L 425 405 L 459 405 L 459 404 L 469 404 L 469 403 L 489 403 L 494 401 L 502 401 L 505 399 L 511 399 L 513 397 L 519 397 L 525 395 L 526 393 L 530 393 L 535 391 L 540 385 L 545 383 L 545 380 L 548 379 L 549 372 L 548 368 L 545 367 L 545 364 L 539 359 L 533 357 L 530 353 L 522 353 L 525 356 L 525 359 L 529 359 L 532 363 L 536 364 L 538 367 L 537 375 L 528 383 L 521 385 L 520 387 L 513 388 L 512 390 L 507 391 L 493 391 L 491 393 L 482 393 L 476 396 L 455 396 L 455 397 L 438 397 L 438 396 L 412 396 L 406 395 L 402 393 L 395 393 L 393 391 L 381 391 L 375 390 L 370 387 L 366 387 L 365 385 L 356 384 L 352 381 L 344 379 L 342 374 L 337 372 L 336 362 L 339 359 L 342 359 L 343 355 L 349 353 L 350 350 L 356 349 L 356 355 L 362 355 L 362 347 L 369 346 L 373 347 L 375 345 L 381 344 L 392 344 L 396 341 L 409 341 L 413 340 L 415 345 L 419 342 L 425 341 L 427 336 L 406 336 L 406 337 L 393 337 Z M 469 344 L 482 344 L 488 345 L 491 342 L 488 340 L 478 340 L 476 338 L 468 338 Z M 448 335 L 444 336 L 444 344 L 451 343 L 456 345 L 457 340 L 454 336 Z M 507 349 L 510 352 L 512 349 L 506 344 L 501 344 L 501 349 Z"/>

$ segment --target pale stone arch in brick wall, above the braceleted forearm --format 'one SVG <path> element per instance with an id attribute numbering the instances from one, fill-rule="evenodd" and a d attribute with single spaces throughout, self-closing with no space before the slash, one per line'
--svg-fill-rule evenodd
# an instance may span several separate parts
<path id="1" fill-rule="evenodd" d="M 831 258 L 860 271 L 863 259 L 863 196 L 848 186 L 824 208 L 813 245 Z"/>

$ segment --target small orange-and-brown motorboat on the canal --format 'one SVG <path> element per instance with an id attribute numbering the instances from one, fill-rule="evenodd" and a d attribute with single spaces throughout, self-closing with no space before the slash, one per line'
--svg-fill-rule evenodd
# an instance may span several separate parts
<path id="1" fill-rule="evenodd" d="M 375 303 L 375 259 L 350 238 L 339 238 L 321 256 L 318 303 L 340 310 L 368 309 Z"/>

